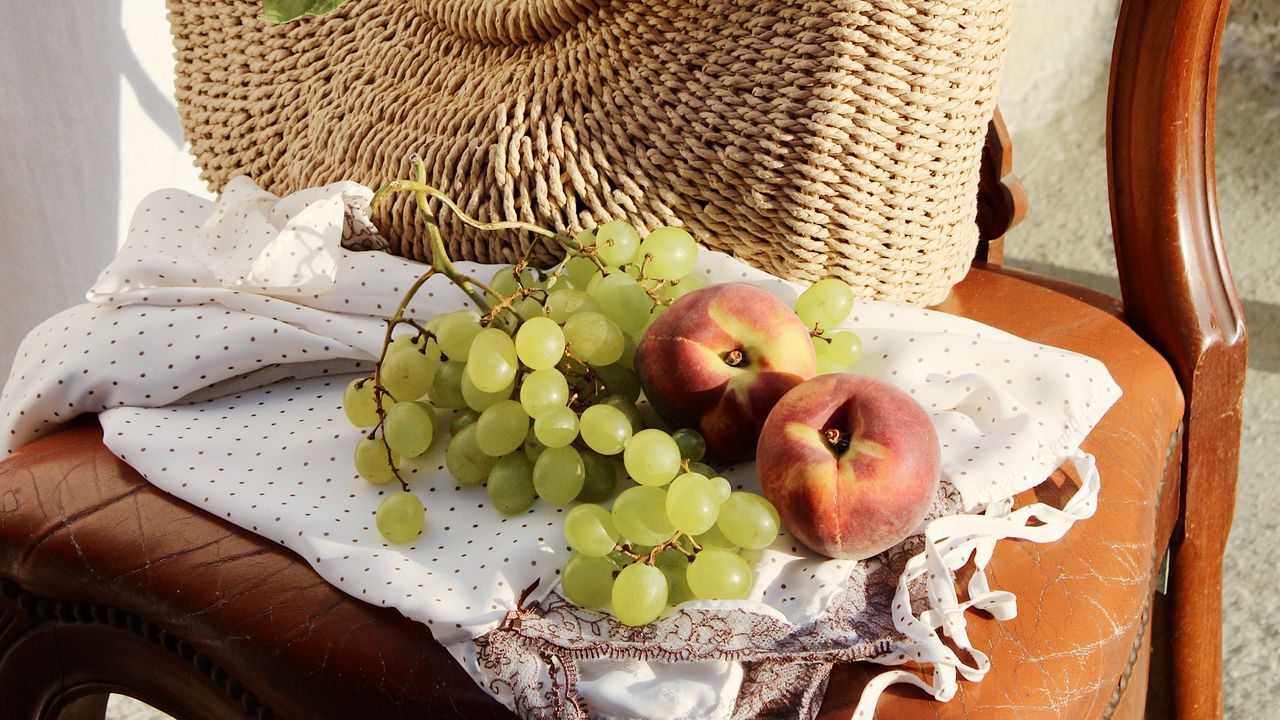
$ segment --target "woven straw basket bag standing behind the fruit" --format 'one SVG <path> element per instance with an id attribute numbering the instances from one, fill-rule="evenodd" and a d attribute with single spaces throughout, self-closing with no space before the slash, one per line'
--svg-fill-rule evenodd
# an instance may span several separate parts
<path id="1" fill-rule="evenodd" d="M 268 27 L 169 0 L 205 178 L 276 193 L 428 161 L 481 219 L 687 227 L 792 279 L 942 300 L 973 258 L 1010 0 L 353 0 Z M 407 197 L 375 215 L 424 259 Z M 526 238 L 440 218 L 454 258 Z"/>

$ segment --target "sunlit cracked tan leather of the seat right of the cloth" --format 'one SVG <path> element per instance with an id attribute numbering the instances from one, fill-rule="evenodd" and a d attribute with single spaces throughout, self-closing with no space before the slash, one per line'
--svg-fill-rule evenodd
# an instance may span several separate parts
<path id="1" fill-rule="evenodd" d="M 991 587 L 1015 592 L 1019 615 L 996 623 L 969 614 L 974 647 L 991 656 L 987 678 L 961 680 L 948 703 L 897 685 L 881 698 L 877 717 L 1108 717 L 1121 678 L 1133 692 L 1146 688 L 1146 678 L 1130 676 L 1126 667 L 1143 641 L 1152 578 L 1178 509 L 1176 469 L 1162 482 L 1183 414 L 1172 370 L 1124 325 L 1116 301 L 1066 283 L 978 269 L 938 309 L 1092 355 L 1106 363 L 1124 395 L 1083 443 L 1102 478 L 1097 514 L 1056 543 L 996 546 Z M 1059 470 L 1019 502 L 1061 506 L 1071 483 Z M 877 670 L 867 664 L 838 667 L 822 717 L 847 717 Z"/>

